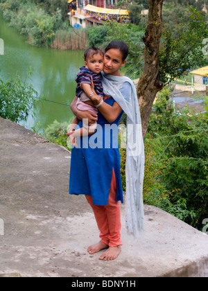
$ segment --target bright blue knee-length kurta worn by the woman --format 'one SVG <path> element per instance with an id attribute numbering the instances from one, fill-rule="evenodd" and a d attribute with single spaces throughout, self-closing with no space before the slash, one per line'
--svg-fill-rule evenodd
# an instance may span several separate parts
<path id="1" fill-rule="evenodd" d="M 104 102 L 112 106 L 114 99 L 107 98 Z M 108 123 L 98 112 L 96 132 L 77 138 L 78 148 L 71 149 L 69 194 L 92 195 L 94 205 L 107 205 L 114 169 L 116 201 L 121 200 L 123 203 L 118 145 L 118 128 L 122 114 L 123 111 L 113 123 Z M 78 126 L 83 127 L 83 121 Z"/>

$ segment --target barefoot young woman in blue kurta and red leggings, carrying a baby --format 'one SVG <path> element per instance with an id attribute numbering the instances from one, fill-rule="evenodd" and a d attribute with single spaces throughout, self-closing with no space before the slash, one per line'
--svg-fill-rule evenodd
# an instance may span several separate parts
<path id="1" fill-rule="evenodd" d="M 103 69 L 103 91 L 105 97 L 99 99 L 96 93 L 94 104 L 98 116 L 76 109 L 76 98 L 71 110 L 79 119 L 88 118 L 89 125 L 97 120 L 98 127 L 92 136 L 80 137 L 78 148 L 71 150 L 71 170 L 69 194 L 85 194 L 92 206 L 101 240 L 88 247 L 89 254 L 107 249 L 102 260 L 114 260 L 121 252 L 121 213 L 119 201 L 123 203 L 121 186 L 118 127 L 123 111 L 127 114 L 127 125 L 136 128 L 137 144 L 133 142 L 135 130 L 128 129 L 126 161 L 126 215 L 128 230 L 138 236 L 144 227 L 142 186 L 144 177 L 144 145 L 141 135 L 141 119 L 135 87 L 129 78 L 121 76 L 125 65 L 128 46 L 121 41 L 111 42 L 105 48 Z M 93 91 L 93 87 L 92 87 Z M 104 102 L 103 102 L 104 101 Z M 106 134 L 106 125 L 116 125 L 116 134 Z M 95 140 L 97 141 L 95 146 Z M 115 141 L 116 140 L 116 147 Z"/>

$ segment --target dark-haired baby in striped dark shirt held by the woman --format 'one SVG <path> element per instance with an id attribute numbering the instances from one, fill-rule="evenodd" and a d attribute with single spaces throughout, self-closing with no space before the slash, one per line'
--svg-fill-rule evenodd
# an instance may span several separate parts
<path id="1" fill-rule="evenodd" d="M 76 107 L 78 110 L 98 114 L 98 109 L 92 102 L 91 97 L 94 95 L 95 91 L 103 100 L 101 74 L 101 71 L 103 71 L 103 56 L 103 52 L 98 48 L 88 48 L 87 51 L 85 51 L 85 66 L 80 68 L 80 72 L 76 77 L 76 82 L 78 83 L 76 87 L 76 96 L 78 97 Z M 92 81 L 94 84 L 94 90 L 92 89 Z M 76 136 L 94 134 L 97 127 L 97 122 L 89 126 L 84 119 L 83 127 L 75 130 L 79 121 L 80 120 L 77 117 L 73 118 L 69 127 L 69 132 L 67 132 L 67 135 L 71 139 L 71 143 L 75 146 L 78 146 L 76 143 Z"/>

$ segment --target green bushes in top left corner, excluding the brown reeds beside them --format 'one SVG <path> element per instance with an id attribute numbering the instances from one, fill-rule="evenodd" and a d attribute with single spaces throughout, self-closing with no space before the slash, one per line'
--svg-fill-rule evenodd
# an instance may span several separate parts
<path id="1" fill-rule="evenodd" d="M 9 21 L 9 25 L 26 35 L 32 45 L 50 46 L 55 30 L 64 26 L 58 6 L 49 14 L 42 6 L 36 6 L 31 1 L 16 0 L 14 3 L 6 0 L 0 4 L 3 17 Z"/>

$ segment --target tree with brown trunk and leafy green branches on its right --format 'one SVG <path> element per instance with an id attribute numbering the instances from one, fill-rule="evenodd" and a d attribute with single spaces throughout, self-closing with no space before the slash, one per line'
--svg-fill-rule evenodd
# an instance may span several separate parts
<path id="1" fill-rule="evenodd" d="M 176 24 L 177 33 L 164 28 L 162 22 L 163 0 L 149 0 L 148 24 L 143 37 L 144 69 L 137 85 L 143 135 L 153 101 L 164 85 L 200 62 L 205 62 L 202 48 L 208 37 L 205 15 L 189 7 L 184 10 L 182 21 Z"/>

